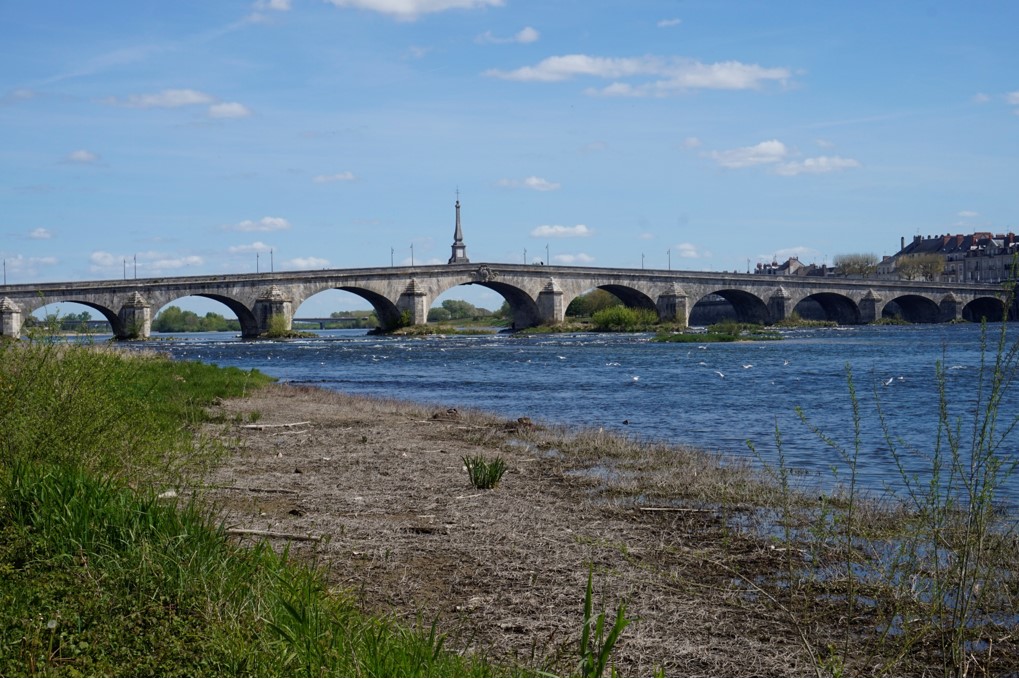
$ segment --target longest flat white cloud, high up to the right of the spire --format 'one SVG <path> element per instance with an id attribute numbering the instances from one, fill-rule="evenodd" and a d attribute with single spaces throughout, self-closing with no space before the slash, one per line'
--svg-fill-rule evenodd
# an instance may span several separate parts
<path id="1" fill-rule="evenodd" d="M 678 57 L 596 57 L 586 54 L 553 56 L 534 66 L 516 70 L 490 69 L 489 77 L 533 83 L 558 83 L 574 77 L 657 79 L 650 82 L 615 82 L 587 94 L 609 97 L 667 96 L 686 90 L 756 90 L 767 82 L 785 84 L 788 68 L 765 68 L 740 61 L 702 63 Z"/>

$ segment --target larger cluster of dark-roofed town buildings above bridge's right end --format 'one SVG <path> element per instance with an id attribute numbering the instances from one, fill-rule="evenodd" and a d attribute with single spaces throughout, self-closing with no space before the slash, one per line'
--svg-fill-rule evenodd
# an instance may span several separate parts
<path id="1" fill-rule="evenodd" d="M 899 252 L 878 264 L 879 277 L 919 277 L 941 282 L 1001 282 L 1013 275 L 1019 238 L 1012 232 L 994 234 L 989 231 L 914 236 L 910 243 L 903 238 L 900 246 Z M 910 259 L 915 261 L 918 258 L 940 258 L 941 271 L 917 276 L 908 264 Z"/>

